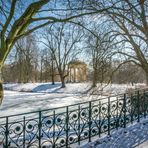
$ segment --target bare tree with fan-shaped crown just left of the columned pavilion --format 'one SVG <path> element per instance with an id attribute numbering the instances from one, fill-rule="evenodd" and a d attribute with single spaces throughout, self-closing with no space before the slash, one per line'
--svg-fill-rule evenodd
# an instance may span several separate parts
<path id="1" fill-rule="evenodd" d="M 81 50 L 77 44 L 81 41 L 83 33 L 79 27 L 60 23 L 45 30 L 42 42 L 49 50 L 56 63 L 62 88 L 65 87 L 65 78 L 68 76 L 68 63 L 74 59 Z"/>

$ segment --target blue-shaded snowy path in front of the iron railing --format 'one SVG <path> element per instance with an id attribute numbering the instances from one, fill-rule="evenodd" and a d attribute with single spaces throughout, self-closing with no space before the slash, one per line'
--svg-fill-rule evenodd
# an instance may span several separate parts
<path id="1" fill-rule="evenodd" d="M 81 148 L 148 148 L 148 119 L 112 132 Z"/>

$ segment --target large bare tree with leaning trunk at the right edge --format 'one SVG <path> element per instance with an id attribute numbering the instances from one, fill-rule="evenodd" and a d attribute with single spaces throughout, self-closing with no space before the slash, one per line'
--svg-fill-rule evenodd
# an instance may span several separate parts
<path id="1" fill-rule="evenodd" d="M 111 38 L 122 46 L 115 54 L 140 66 L 148 84 L 148 1 L 116 1 L 106 15 L 114 23 Z"/>

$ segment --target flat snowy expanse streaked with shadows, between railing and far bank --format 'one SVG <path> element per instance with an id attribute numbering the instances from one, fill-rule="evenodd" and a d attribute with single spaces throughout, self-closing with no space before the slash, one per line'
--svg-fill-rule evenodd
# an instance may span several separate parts
<path id="1" fill-rule="evenodd" d="M 5 91 L 0 116 L 50 109 L 80 102 L 78 95 Z"/>

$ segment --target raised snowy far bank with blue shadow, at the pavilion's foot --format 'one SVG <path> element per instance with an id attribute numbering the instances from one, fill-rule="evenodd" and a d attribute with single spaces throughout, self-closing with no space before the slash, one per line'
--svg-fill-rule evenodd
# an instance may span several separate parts
<path id="1" fill-rule="evenodd" d="M 89 90 L 91 83 L 68 83 L 66 84 L 66 88 L 60 88 L 61 84 L 56 83 L 55 85 L 51 85 L 51 83 L 16 83 L 16 84 L 4 84 L 4 88 L 8 90 L 14 91 L 27 91 L 27 92 L 46 92 L 46 93 L 66 93 L 66 94 L 78 94 L 85 93 Z M 131 84 L 98 84 L 97 90 L 102 90 L 107 93 L 124 93 L 126 90 L 130 88 L 141 88 L 144 87 L 145 84 L 135 84 L 132 86 Z"/>

